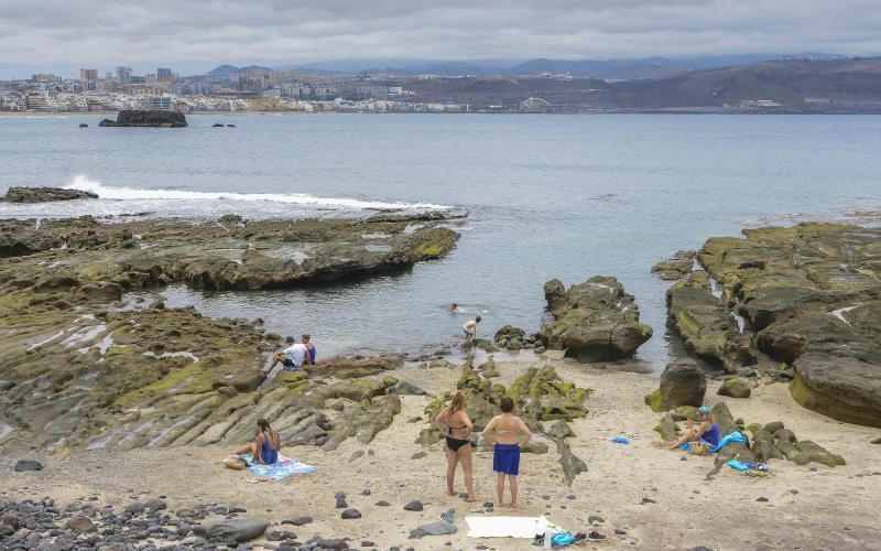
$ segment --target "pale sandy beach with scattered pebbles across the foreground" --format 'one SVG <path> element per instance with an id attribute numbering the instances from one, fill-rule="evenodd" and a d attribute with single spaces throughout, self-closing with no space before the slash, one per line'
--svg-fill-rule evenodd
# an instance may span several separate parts
<path id="1" fill-rule="evenodd" d="M 132 498 L 164 496 L 168 511 L 220 504 L 247 509 L 239 514 L 242 517 L 269 520 L 269 531 L 292 529 L 301 542 L 313 536 L 350 538 L 351 548 L 371 543 L 366 548 L 533 549 L 527 540 L 468 538 L 464 518 L 474 514 L 548 515 L 573 532 L 595 531 L 605 537 L 580 543 L 581 549 L 881 549 L 873 501 L 881 490 L 881 450 L 870 444 L 878 430 L 805 410 L 792 400 L 786 385 L 760 386 L 749 399 L 727 399 L 735 417 L 747 423 L 783 421 L 801 440 L 813 440 L 842 455 L 847 465 L 798 466 L 781 460 L 771 462 L 771 475 L 764 478 L 725 467 L 707 480 L 711 458 L 651 445 L 659 440 L 652 428 L 660 415 L 643 404 L 643 396 L 656 388 L 656 378 L 619 371 L 613 365 L 539 360 L 524 354 L 522 359 L 498 363 L 501 382 L 510 383 L 535 363 L 553 365 L 565 380 L 592 389 L 589 414 L 573 423 L 576 436 L 569 439 L 588 471 L 568 487 L 553 445 L 547 454 L 524 455 L 521 506 L 515 510 L 482 512 L 483 501 L 497 500 L 488 451 L 475 454 L 478 504 L 445 495 L 443 443 L 427 447 L 422 458 L 411 458 L 422 450 L 414 441 L 425 422 L 409 421 L 423 415 L 429 401 L 418 396 L 402 397 L 402 412 L 369 445 L 349 439 L 330 453 L 315 446 L 282 449 L 317 466 L 313 475 L 284 482 L 258 479 L 248 472 L 225 468 L 221 461 L 229 450 L 219 446 L 74 451 L 66 457 L 18 450 L 6 453 L 0 462 L 0 496 L 17 500 L 48 496 L 59 507 L 96 497 L 95 503 L 117 509 Z M 440 395 L 455 388 L 459 368 L 405 367 L 395 376 Z M 709 381 L 710 406 L 719 398 L 717 386 L 718 381 Z M 628 434 L 638 435 L 629 445 L 610 442 Z M 14 462 L 25 456 L 42 460 L 45 468 L 13 473 Z M 460 478 L 457 488 L 463 488 Z M 340 509 L 335 508 L 337 491 L 346 493 L 349 507 L 362 518 L 340 518 Z M 381 500 L 389 505 L 377 506 Z M 421 500 L 424 510 L 405 511 L 403 506 L 412 500 Z M 438 520 L 448 508 L 456 509 L 456 533 L 409 539 L 411 530 Z M 314 521 L 301 527 L 281 525 L 298 516 Z M 591 526 L 590 517 L 601 520 L 594 518 Z M 276 545 L 262 539 L 251 543 L 254 548 Z"/>

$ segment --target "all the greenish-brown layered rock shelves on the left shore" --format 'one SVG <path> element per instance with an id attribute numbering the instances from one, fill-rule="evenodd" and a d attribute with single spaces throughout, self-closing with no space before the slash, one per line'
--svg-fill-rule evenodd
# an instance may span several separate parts
<path id="1" fill-rule="evenodd" d="M 435 258 L 457 235 L 404 234 L 404 223 L 224 220 L 0 222 L 0 255 L 9 257 L 0 261 L 0 446 L 238 443 L 268 417 L 286 445 L 333 450 L 349 437 L 369 443 L 391 424 L 401 407 L 389 389 L 399 381 L 373 376 L 403 365 L 401 356 L 330 358 L 267 380 L 268 355 L 281 343 L 260 323 L 144 307 L 124 293 L 175 281 L 262 289 L 385 272 Z M 362 238 L 368 230 L 389 250 L 365 248 L 380 239 Z M 304 247 L 309 258 L 297 256 Z"/>

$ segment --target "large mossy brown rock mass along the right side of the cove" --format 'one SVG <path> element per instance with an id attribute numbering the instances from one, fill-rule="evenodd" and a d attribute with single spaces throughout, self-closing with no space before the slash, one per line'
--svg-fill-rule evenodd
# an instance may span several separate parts
<path id="1" fill-rule="evenodd" d="M 881 426 L 881 228 L 804 224 L 710 238 L 671 289 L 672 326 L 728 367 L 758 353 L 794 368 L 792 395 L 842 421 Z M 743 333 L 731 314 L 742 320 Z"/>

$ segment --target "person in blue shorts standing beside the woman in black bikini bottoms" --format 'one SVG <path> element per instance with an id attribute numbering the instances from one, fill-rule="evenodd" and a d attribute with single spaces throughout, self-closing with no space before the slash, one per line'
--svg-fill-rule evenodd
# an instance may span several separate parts
<path id="1" fill-rule="evenodd" d="M 496 445 L 492 450 L 492 471 L 496 472 L 496 493 L 499 496 L 499 507 L 504 507 L 504 478 L 508 477 L 508 487 L 511 490 L 511 507 L 516 507 L 516 477 L 520 474 L 520 441 L 523 434 L 529 442 L 532 437 L 529 426 L 522 419 L 511 413 L 514 410 L 514 400 L 509 396 L 502 397 L 499 402 L 501 414 L 496 415 L 483 429 L 483 437 L 489 439 L 496 433 Z"/>

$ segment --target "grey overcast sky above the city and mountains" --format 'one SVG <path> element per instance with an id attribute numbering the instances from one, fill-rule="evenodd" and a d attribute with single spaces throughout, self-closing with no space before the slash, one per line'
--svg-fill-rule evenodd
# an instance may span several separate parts
<path id="1" fill-rule="evenodd" d="M 867 55 L 881 52 L 879 30 L 879 0 L 0 0 L 0 78 L 362 57 Z"/>

